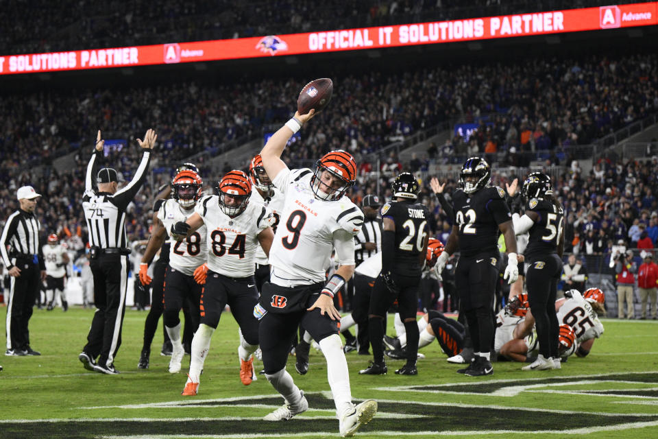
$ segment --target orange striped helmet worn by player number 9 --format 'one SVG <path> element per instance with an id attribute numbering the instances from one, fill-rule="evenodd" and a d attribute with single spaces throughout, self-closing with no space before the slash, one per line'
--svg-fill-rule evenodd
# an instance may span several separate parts
<path id="1" fill-rule="evenodd" d="M 331 176 L 333 184 L 328 184 L 328 178 L 323 181 L 324 172 Z M 340 187 L 335 185 L 336 179 L 341 182 Z M 324 154 L 322 158 L 315 163 L 315 174 L 310 179 L 310 187 L 315 193 L 315 198 L 319 200 L 334 201 L 340 200 L 345 192 L 354 186 L 356 182 L 356 162 L 354 157 L 347 151 L 336 150 Z"/>

